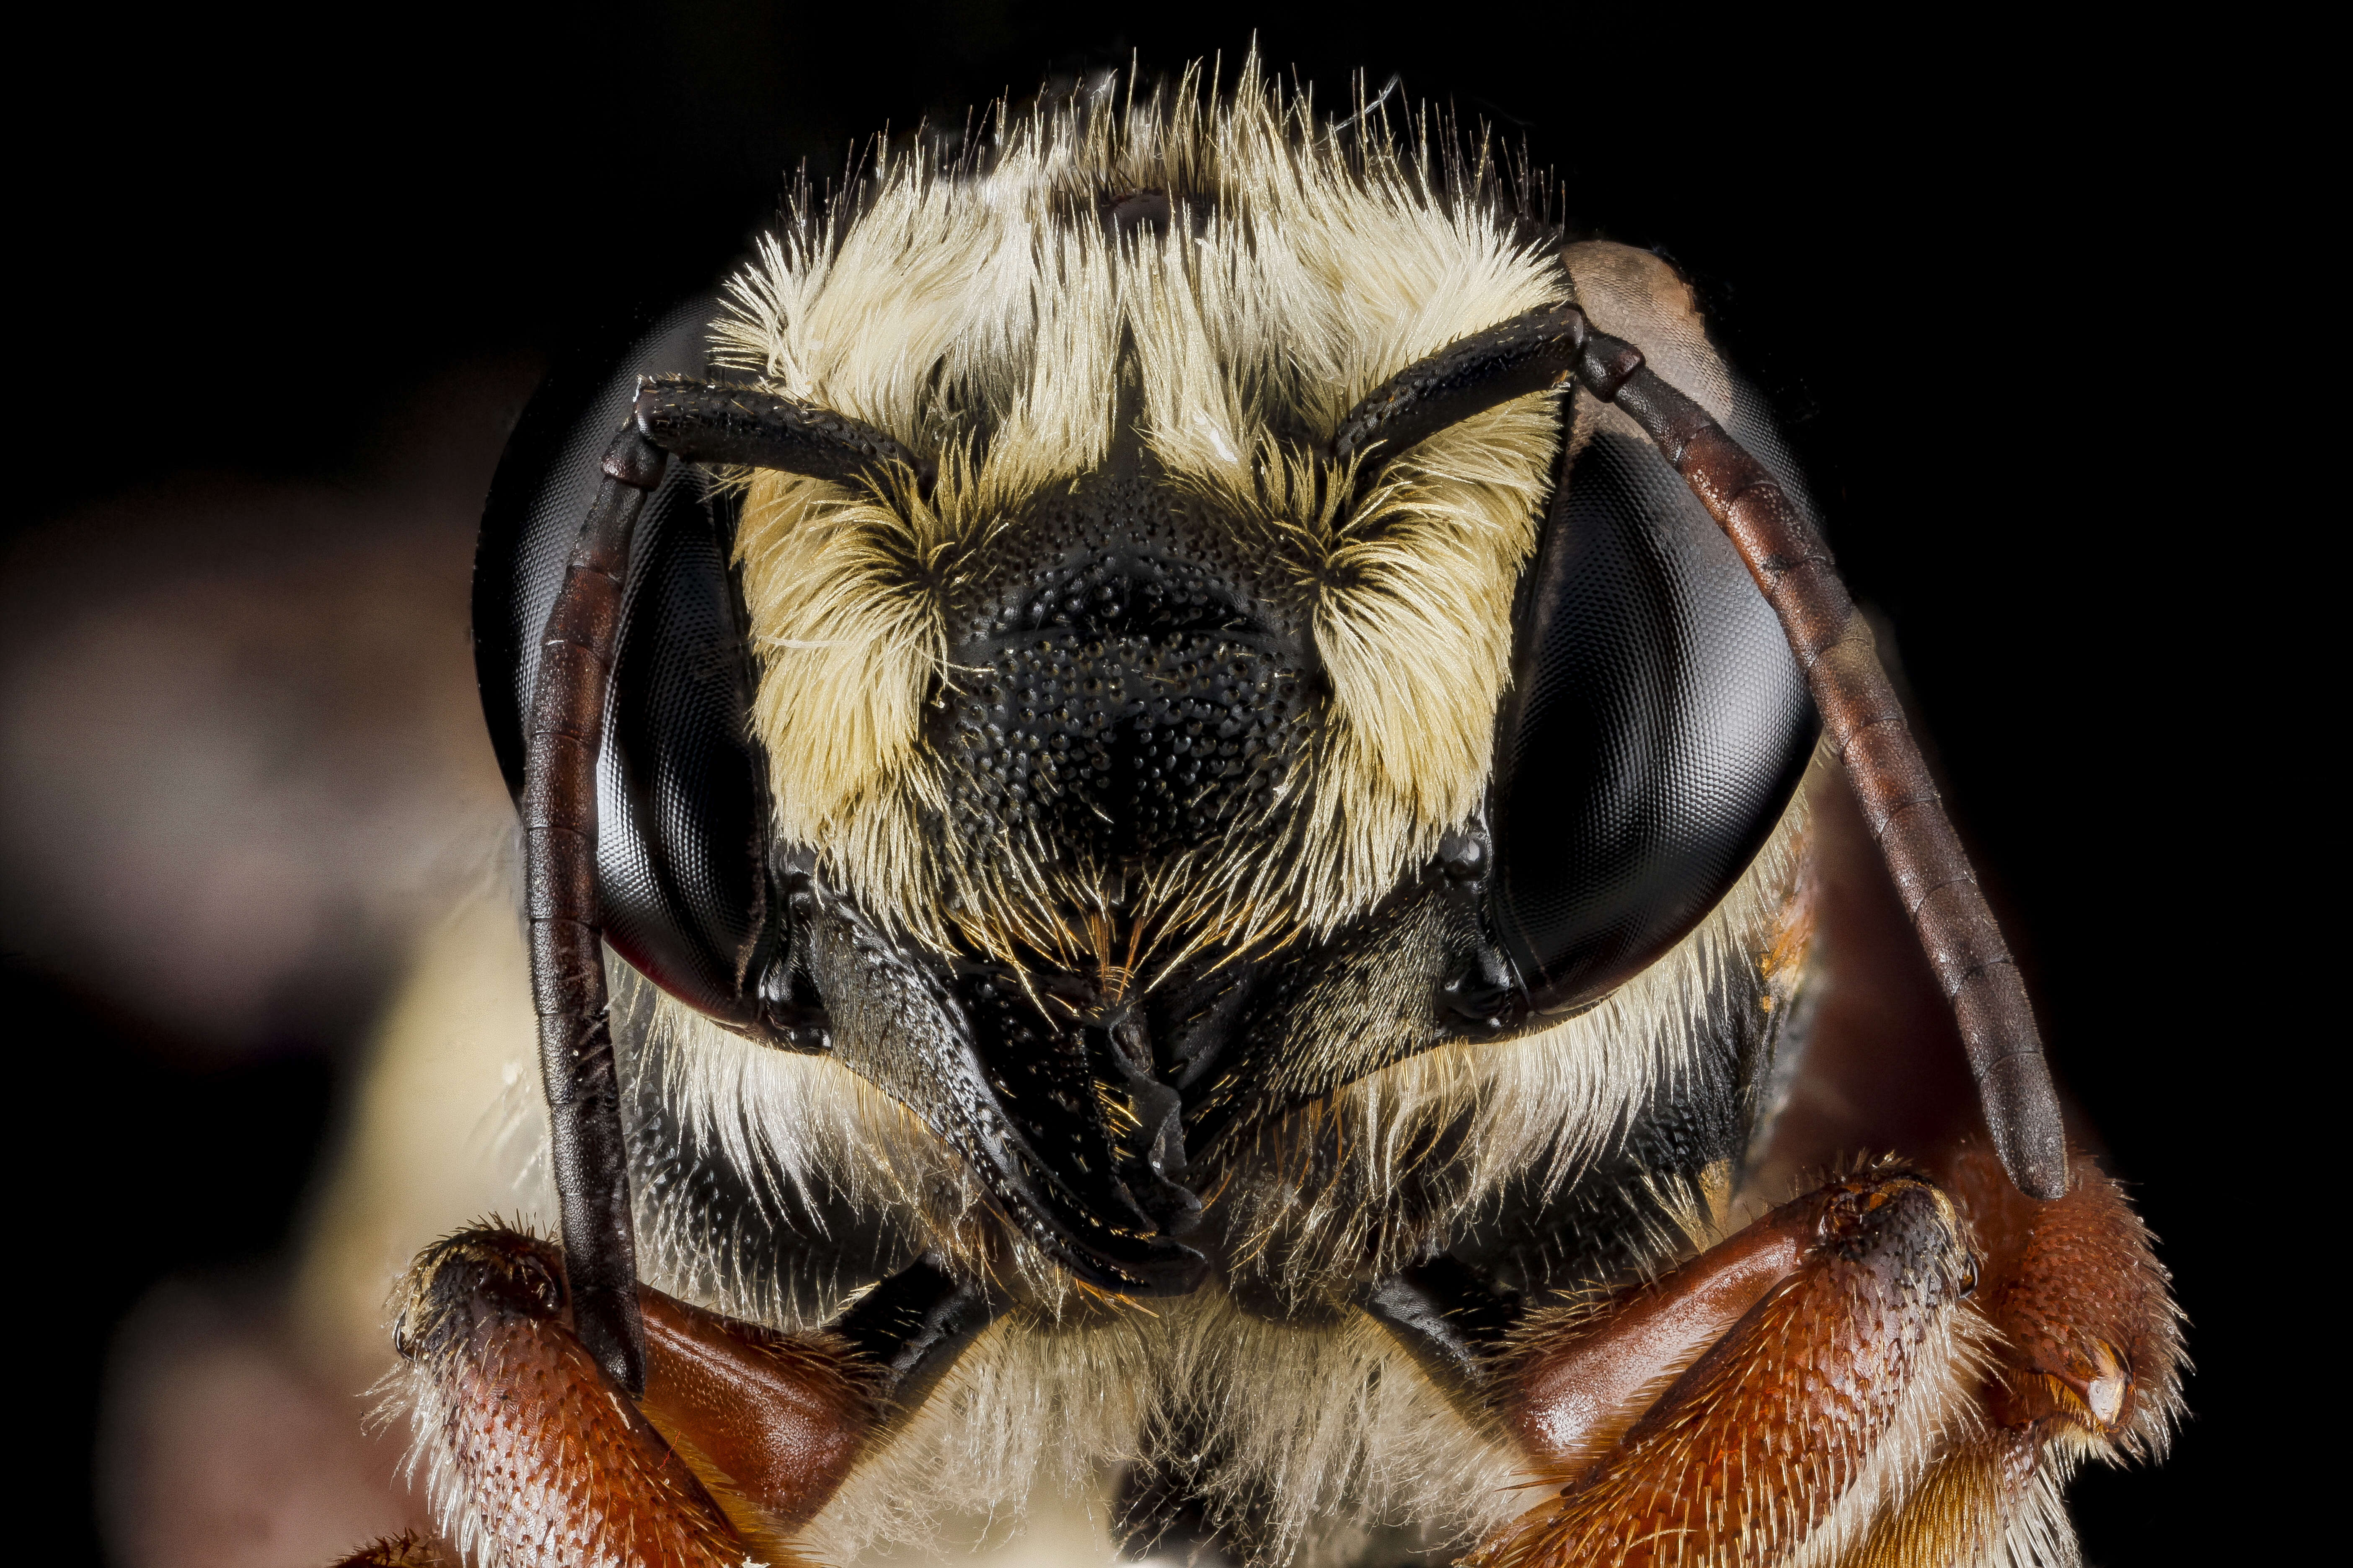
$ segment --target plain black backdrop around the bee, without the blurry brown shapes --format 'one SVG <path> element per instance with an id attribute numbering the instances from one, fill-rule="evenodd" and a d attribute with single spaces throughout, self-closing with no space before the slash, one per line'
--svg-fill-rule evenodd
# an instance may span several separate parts
<path id="1" fill-rule="evenodd" d="M 1224 49 L 1231 75 L 1252 31 L 1320 103 L 1355 71 L 1402 73 L 1525 136 L 1579 228 L 1687 268 L 1784 400 L 2059 1070 L 2193 1321 L 2177 1458 L 2080 1483 L 2089 1554 L 2186 1561 L 2233 1493 L 2245 1530 L 2238 1465 L 2278 1373 L 2257 1368 L 2273 1335 L 2249 1260 L 2278 1272 L 2294 1229 L 2261 1197 L 2280 1135 L 2259 1103 L 2311 1046 L 2264 1011 L 2297 957 L 2242 867 L 2297 806 L 2235 696 L 2249 611 L 2235 548 L 2209 538 L 2219 437 L 2181 378 L 2191 301 L 2245 287 L 2247 214 L 2162 40 L 1960 12 L 1729 33 L 1574 7 L 1395 31 L 1273 5 L 812 12 L 412 7 L 334 33 L 49 16 L 19 54 L 45 108 L 12 181 L 33 268 L 12 536 L 96 541 L 73 520 L 191 482 L 388 484 L 388 430 L 452 376 L 473 376 L 489 451 L 532 367 L 711 282 L 788 167 L 838 169 L 885 125 L 960 125 L 1129 49 L 1146 68 Z M 16 1093 L 42 1107 L 21 1159 L 56 1173 L 19 1201 L 64 1204 L 19 1246 L 45 1450 L 16 1488 L 52 1500 L 64 1561 L 94 1552 L 80 1500 L 118 1316 L 174 1272 L 282 1246 L 386 976 L 346 966 L 221 1046 L 16 947 Z"/>

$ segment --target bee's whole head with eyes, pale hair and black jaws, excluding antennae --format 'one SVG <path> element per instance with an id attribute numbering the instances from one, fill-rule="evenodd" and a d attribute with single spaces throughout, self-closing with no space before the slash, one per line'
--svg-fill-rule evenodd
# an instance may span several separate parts
<path id="1" fill-rule="evenodd" d="M 1673 294 L 1652 266 L 1633 294 Z M 1191 1291 L 1233 1251 L 1219 1150 L 1657 969 L 1812 752 L 1772 611 L 1600 404 L 1513 386 L 1358 440 L 1577 292 L 1485 167 L 1252 87 L 1045 110 L 805 214 L 602 400 L 694 369 L 913 463 L 652 496 L 614 950 L 913 1110 L 1021 1246 Z M 511 451 L 478 625 L 544 616 L 560 440 Z M 525 637 L 482 661 L 520 712 Z"/>

